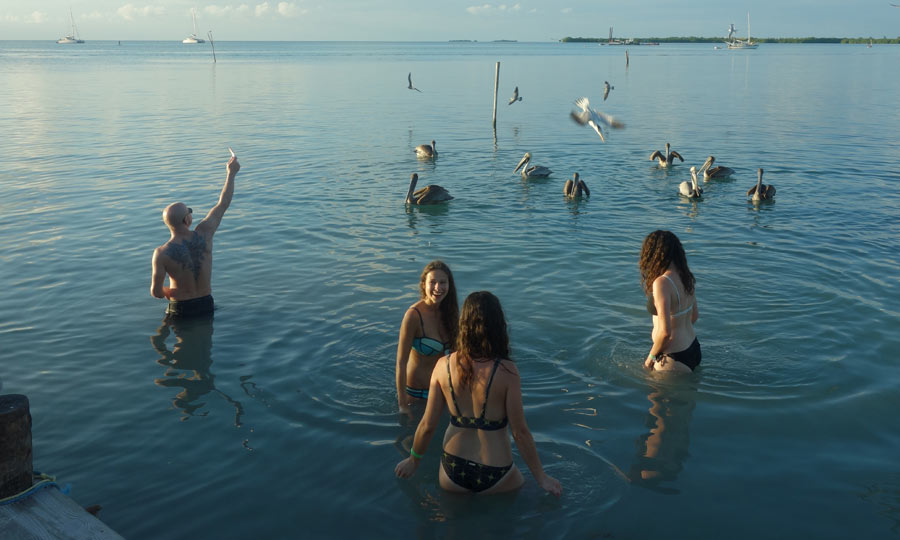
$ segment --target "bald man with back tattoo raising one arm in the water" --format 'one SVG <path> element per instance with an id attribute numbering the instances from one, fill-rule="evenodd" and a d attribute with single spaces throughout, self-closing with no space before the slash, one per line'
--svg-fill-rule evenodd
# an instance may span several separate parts
<path id="1" fill-rule="evenodd" d="M 172 236 L 153 251 L 150 294 L 169 299 L 167 316 L 193 317 L 213 312 L 212 237 L 231 205 L 234 177 L 241 170 L 237 158 L 228 161 L 226 170 L 219 202 L 193 231 L 193 210 L 184 203 L 172 203 L 163 210 L 163 222 Z M 169 276 L 168 287 L 165 286 L 166 276 Z"/>

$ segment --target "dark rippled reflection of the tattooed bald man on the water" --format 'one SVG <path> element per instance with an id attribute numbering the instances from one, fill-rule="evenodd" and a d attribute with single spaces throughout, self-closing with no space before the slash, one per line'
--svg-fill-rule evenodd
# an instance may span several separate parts
<path id="1" fill-rule="evenodd" d="M 169 350 L 166 339 L 175 333 L 175 344 Z M 234 406 L 234 425 L 241 426 L 244 407 L 215 386 L 212 366 L 213 316 L 178 319 L 166 317 L 150 336 L 153 349 L 159 353 L 156 361 L 166 368 L 163 377 L 154 379 L 158 386 L 181 388 L 172 400 L 172 405 L 182 412 L 182 421 L 192 416 L 206 416 L 209 411 L 199 412 L 206 402 L 197 402 L 210 392 L 218 393 Z"/>

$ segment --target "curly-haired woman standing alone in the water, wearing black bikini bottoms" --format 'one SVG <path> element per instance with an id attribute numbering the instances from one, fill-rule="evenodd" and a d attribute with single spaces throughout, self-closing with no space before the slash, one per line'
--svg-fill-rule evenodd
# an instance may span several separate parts
<path id="1" fill-rule="evenodd" d="M 653 316 L 653 346 L 644 367 L 690 373 L 700 365 L 700 342 L 694 333 L 700 313 L 684 247 L 673 233 L 653 231 L 644 239 L 639 266 L 647 311 Z"/>

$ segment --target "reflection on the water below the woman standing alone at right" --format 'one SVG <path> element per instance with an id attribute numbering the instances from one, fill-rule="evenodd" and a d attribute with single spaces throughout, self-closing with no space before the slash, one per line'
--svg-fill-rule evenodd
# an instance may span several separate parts
<path id="1" fill-rule="evenodd" d="M 652 388 L 647 395 L 651 403 L 647 414 L 650 432 L 636 441 L 637 456 L 628 471 L 632 483 L 662 493 L 679 493 L 677 488 L 661 484 L 678 478 L 689 455 L 695 396 L 693 387 L 660 384 Z"/>

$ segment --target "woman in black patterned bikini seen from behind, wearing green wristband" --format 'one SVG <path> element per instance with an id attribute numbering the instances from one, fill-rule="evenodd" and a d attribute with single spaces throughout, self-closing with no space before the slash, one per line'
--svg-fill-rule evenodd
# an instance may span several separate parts
<path id="1" fill-rule="evenodd" d="M 466 298 L 456 352 L 440 360 L 431 375 L 425 416 L 416 429 L 410 456 L 394 472 L 409 478 L 419 467 L 444 405 L 450 425 L 444 433 L 441 487 L 464 493 L 499 493 L 525 479 L 512 459 L 507 426 L 538 485 L 559 496 L 559 481 L 544 472 L 525 423 L 519 370 L 509 360 L 509 335 L 500 301 L 487 292 Z"/>

